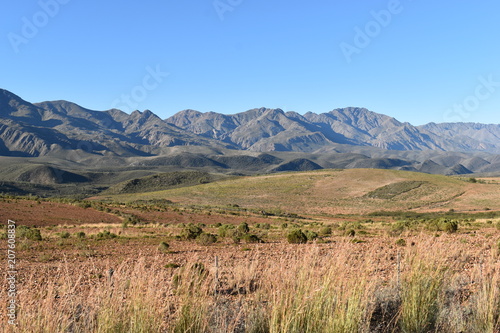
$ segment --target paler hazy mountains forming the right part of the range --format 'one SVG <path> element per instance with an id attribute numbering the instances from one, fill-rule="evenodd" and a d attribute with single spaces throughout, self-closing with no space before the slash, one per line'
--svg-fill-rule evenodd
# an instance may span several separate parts
<path id="1" fill-rule="evenodd" d="M 348 144 L 387 150 L 500 153 L 500 125 L 458 123 L 416 127 L 364 108 L 305 115 L 266 108 L 235 115 L 185 110 L 166 122 L 252 151 L 314 152 L 326 146 Z"/>

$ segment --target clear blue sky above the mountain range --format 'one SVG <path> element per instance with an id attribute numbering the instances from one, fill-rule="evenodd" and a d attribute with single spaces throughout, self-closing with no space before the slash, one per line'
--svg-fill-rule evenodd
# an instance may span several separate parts
<path id="1" fill-rule="evenodd" d="M 162 118 L 360 106 L 500 123 L 499 13 L 494 0 L 7 1 L 0 87 Z"/>

